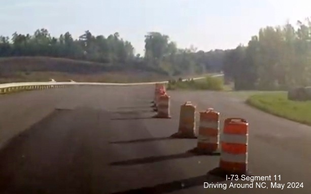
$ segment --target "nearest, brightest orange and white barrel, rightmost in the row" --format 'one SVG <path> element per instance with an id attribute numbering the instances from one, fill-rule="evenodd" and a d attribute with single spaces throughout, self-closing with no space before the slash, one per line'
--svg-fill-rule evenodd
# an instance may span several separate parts
<path id="1" fill-rule="evenodd" d="M 224 122 L 221 138 L 219 167 L 231 174 L 248 171 L 248 127 L 245 119 L 228 118 Z"/>

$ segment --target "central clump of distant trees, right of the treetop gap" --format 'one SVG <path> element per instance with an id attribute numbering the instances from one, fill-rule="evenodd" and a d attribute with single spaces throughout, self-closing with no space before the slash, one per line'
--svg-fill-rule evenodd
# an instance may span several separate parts
<path id="1" fill-rule="evenodd" d="M 224 51 L 204 52 L 197 48 L 181 49 L 169 36 L 159 32 L 150 32 L 145 36 L 145 61 L 147 65 L 160 67 L 172 75 L 198 74 L 220 71 Z"/>

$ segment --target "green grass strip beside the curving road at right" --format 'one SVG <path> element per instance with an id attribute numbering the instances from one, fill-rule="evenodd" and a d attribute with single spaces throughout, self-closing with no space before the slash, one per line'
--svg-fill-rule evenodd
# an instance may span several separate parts
<path id="1" fill-rule="evenodd" d="M 311 125 L 311 101 L 287 99 L 287 92 L 270 92 L 250 96 L 247 104 L 279 117 Z"/>

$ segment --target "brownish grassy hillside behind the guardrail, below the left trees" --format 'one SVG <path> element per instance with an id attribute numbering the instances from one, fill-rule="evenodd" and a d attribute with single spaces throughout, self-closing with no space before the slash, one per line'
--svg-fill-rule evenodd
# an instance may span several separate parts
<path id="1" fill-rule="evenodd" d="M 75 80 L 85 82 L 139 82 L 168 79 L 161 69 L 140 63 L 110 64 L 52 57 L 0 58 L 0 82 Z"/>

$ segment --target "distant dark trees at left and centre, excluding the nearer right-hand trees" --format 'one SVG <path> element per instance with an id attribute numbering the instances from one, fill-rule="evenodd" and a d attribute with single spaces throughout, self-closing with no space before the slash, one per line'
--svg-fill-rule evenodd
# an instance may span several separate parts
<path id="1" fill-rule="evenodd" d="M 134 47 L 123 40 L 119 33 L 93 35 L 85 31 L 76 40 L 70 32 L 52 37 L 45 28 L 33 34 L 13 33 L 12 37 L 0 36 L 0 57 L 49 56 L 100 62 L 103 64 L 133 65 L 133 68 L 152 67 L 169 75 L 219 71 L 224 52 L 197 51 L 196 48 L 180 49 L 168 35 L 149 32 L 145 36 L 145 56 L 135 55 Z"/>

